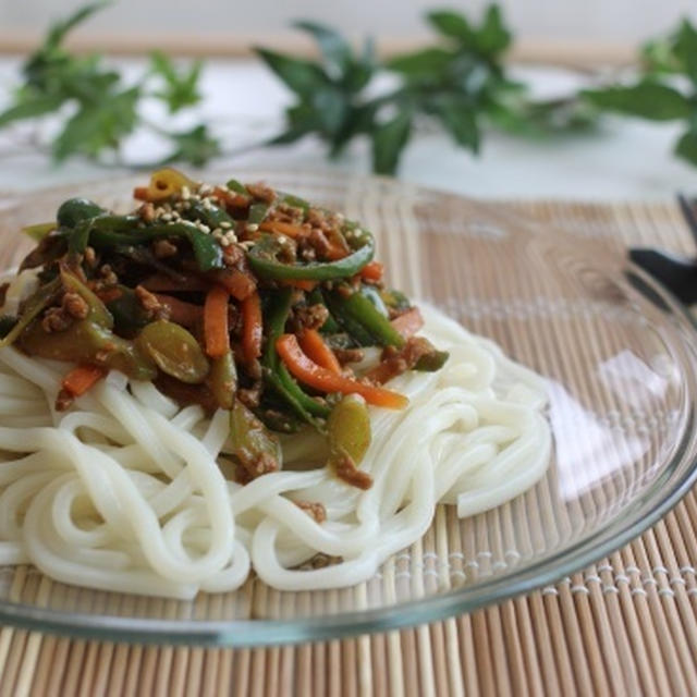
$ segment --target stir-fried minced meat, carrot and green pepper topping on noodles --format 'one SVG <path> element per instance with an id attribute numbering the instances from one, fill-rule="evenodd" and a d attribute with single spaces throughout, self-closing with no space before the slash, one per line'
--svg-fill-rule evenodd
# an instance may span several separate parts
<path id="1" fill-rule="evenodd" d="M 20 271 L 35 269 L 38 285 L 5 306 L 0 345 L 77 364 L 57 409 L 119 370 L 182 405 L 229 411 L 240 480 L 281 466 L 277 432 L 314 428 L 338 476 L 368 488 L 367 404 L 404 408 L 383 384 L 448 357 L 415 335 L 418 308 L 384 286 L 370 233 L 264 184 L 172 169 L 134 197 L 127 215 L 73 198 L 25 229 L 37 245 Z M 358 371 L 365 347 L 380 358 Z"/>

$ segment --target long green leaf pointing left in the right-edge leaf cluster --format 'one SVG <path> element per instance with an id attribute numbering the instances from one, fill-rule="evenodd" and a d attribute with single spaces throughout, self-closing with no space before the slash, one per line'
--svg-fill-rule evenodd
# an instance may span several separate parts
<path id="1" fill-rule="evenodd" d="M 587 89 L 582 95 L 600 109 L 652 121 L 686 119 L 692 111 L 689 100 L 677 89 L 647 80 L 629 86 Z"/>

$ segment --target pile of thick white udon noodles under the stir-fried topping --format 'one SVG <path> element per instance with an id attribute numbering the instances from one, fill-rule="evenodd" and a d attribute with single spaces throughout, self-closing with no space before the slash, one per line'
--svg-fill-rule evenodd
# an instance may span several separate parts
<path id="1" fill-rule="evenodd" d="M 181 599 L 233 590 L 252 570 L 279 589 L 334 588 L 416 541 L 438 503 L 468 516 L 525 491 L 549 462 L 543 380 L 423 308 L 425 335 L 451 355 L 390 383 L 407 409 L 370 407 L 367 491 L 316 466 L 322 442 L 306 432 L 283 438 L 282 470 L 236 484 L 225 412 L 208 419 L 112 371 L 59 413 L 65 364 L 2 348 L 0 564 Z M 327 519 L 296 502 L 321 502 Z M 332 563 L 305 564 L 318 554 Z"/>

